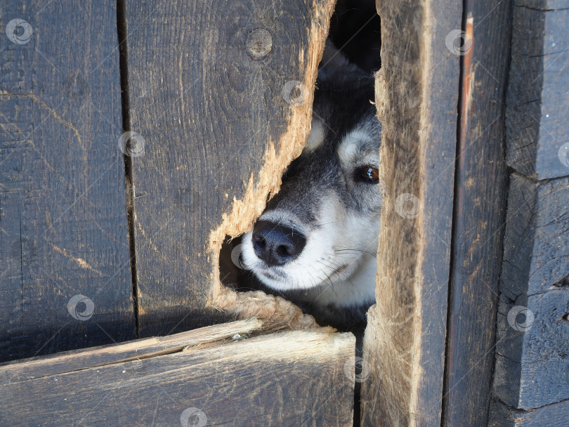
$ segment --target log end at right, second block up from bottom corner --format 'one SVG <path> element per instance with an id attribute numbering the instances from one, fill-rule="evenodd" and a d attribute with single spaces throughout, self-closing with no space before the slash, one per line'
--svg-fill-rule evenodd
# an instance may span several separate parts
<path id="1" fill-rule="evenodd" d="M 497 335 L 497 398 L 523 409 L 569 398 L 569 287 L 501 301 Z"/>

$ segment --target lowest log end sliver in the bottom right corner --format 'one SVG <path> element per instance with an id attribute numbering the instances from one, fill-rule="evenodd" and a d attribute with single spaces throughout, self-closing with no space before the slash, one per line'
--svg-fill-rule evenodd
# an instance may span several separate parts
<path id="1" fill-rule="evenodd" d="M 490 407 L 488 427 L 569 427 L 569 402 L 519 411 L 495 402 Z"/>

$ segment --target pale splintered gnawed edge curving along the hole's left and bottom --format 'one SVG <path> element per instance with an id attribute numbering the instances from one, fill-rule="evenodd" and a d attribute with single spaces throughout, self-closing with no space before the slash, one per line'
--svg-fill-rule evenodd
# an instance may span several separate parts
<path id="1" fill-rule="evenodd" d="M 263 166 L 259 176 L 251 173 L 247 190 L 242 199 L 233 197 L 233 206 L 229 214 L 224 213 L 221 225 L 209 235 L 208 252 L 211 259 L 212 289 L 207 305 L 218 310 L 235 313 L 238 318 L 257 317 L 263 322 L 280 324 L 289 329 L 312 329 L 320 326 L 310 315 L 302 313 L 298 307 L 284 298 L 268 296 L 262 291 L 237 294 L 233 289 L 223 286 L 219 276 L 219 252 L 225 235 L 237 237 L 250 230 L 256 218 L 261 216 L 266 206 L 267 197 L 273 197 L 281 184 L 281 176 L 292 160 L 302 151 L 312 117 L 314 86 L 318 74 L 318 63 L 324 52 L 325 41 L 334 0 L 318 4 L 313 1 L 313 16 L 308 29 L 308 64 L 303 70 L 303 50 L 299 51 L 300 72 L 304 71 L 303 84 L 310 88 L 308 99 L 302 105 L 292 105 L 287 131 L 278 142 L 278 153 L 275 143 L 270 140 L 263 156 Z M 328 328 L 333 330 L 332 328 Z"/>

